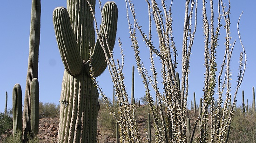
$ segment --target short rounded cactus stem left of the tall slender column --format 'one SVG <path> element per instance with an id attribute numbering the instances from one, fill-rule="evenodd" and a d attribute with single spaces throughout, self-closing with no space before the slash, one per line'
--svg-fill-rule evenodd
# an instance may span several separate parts
<path id="1" fill-rule="evenodd" d="M 22 91 L 20 84 L 13 87 L 13 136 L 22 142 Z"/>

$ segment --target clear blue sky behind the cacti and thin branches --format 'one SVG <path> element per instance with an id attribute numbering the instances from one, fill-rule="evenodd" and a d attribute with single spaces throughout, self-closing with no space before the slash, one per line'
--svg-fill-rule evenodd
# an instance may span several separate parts
<path id="1" fill-rule="evenodd" d="M 97 0 L 96 0 L 97 1 Z M 107 0 L 101 0 L 105 3 Z M 119 9 L 117 39 L 121 38 L 125 56 L 125 81 L 128 94 L 131 93 L 131 71 L 132 65 L 135 65 L 134 52 L 131 48 L 131 42 L 128 33 L 128 23 L 126 19 L 126 8 L 124 0 L 115 0 Z M 227 1 L 227 0 L 225 0 Z M 144 32 L 148 32 L 148 16 L 147 4 L 145 0 L 133 0 L 138 22 L 144 27 Z M 202 1 L 199 0 L 198 8 L 198 25 L 195 43 L 192 48 L 190 75 L 189 75 L 189 103 L 196 92 L 197 103 L 202 97 L 203 81 L 204 81 L 204 65 L 203 65 L 203 33 L 202 33 Z M 236 24 L 240 13 L 243 13 L 240 21 L 240 31 L 243 44 L 246 48 L 248 63 L 243 80 L 243 84 L 239 91 L 237 100 L 241 104 L 242 90 L 245 92 L 245 99 L 248 98 L 249 103 L 252 101 L 252 86 L 256 86 L 255 62 L 256 62 L 256 1 L 255 0 L 231 0 L 231 32 L 232 41 L 237 40 L 234 49 L 234 57 L 232 59 L 232 79 L 236 81 L 238 73 L 238 58 L 241 51 L 241 45 L 238 43 Z M 173 4 L 173 26 L 175 44 L 178 49 L 182 44 L 182 31 L 184 20 L 184 4 L 185 0 L 174 0 Z M 209 6 L 209 2 L 207 3 Z M 66 0 L 42 0 L 41 1 L 41 37 L 39 51 L 39 83 L 40 83 L 40 102 L 53 102 L 59 104 L 61 95 L 61 82 L 63 77 L 64 66 L 61 61 L 59 50 L 56 44 L 52 12 L 55 7 L 66 7 Z M 96 8 L 99 7 L 98 1 Z M 0 5 L 0 112 L 5 108 L 5 92 L 8 92 L 8 108 L 12 106 L 13 86 L 19 83 L 22 87 L 23 102 L 27 76 L 28 46 L 29 46 L 29 28 L 30 28 L 31 0 L 3 0 Z M 99 13 L 99 9 L 96 9 Z M 98 18 L 98 23 L 100 23 Z M 154 33 L 155 31 L 153 31 Z M 155 34 L 155 33 L 154 33 Z M 224 35 L 224 33 L 222 33 Z M 139 36 L 139 35 L 138 35 Z M 141 39 L 139 37 L 139 39 Z M 157 46 L 158 41 L 155 39 L 154 44 Z M 220 41 L 219 49 L 222 49 L 224 42 Z M 145 48 L 141 43 L 141 49 Z M 147 53 L 143 54 L 144 62 L 148 63 Z M 179 51 L 180 52 L 180 51 Z M 120 58 L 120 50 L 118 44 L 114 48 L 115 59 Z M 222 60 L 222 53 L 217 58 Z M 179 59 L 181 58 L 181 53 Z M 181 62 L 181 60 L 179 60 Z M 219 64 L 220 65 L 220 64 Z M 218 67 L 219 67 L 218 65 Z M 178 71 L 180 70 L 178 66 Z M 150 71 L 148 69 L 148 71 Z M 111 82 L 108 71 L 97 78 L 103 91 L 108 97 L 112 97 L 113 84 Z M 235 83 L 231 85 L 235 87 Z M 162 87 L 160 87 L 162 88 Z M 135 98 L 144 96 L 144 86 L 141 82 L 140 75 L 135 70 Z M 189 106 L 190 107 L 190 106 Z"/>

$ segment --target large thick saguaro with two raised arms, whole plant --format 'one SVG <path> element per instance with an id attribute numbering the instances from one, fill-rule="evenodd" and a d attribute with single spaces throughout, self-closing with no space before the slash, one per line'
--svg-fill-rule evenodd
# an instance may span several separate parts
<path id="1" fill-rule="evenodd" d="M 65 67 L 58 143 L 96 143 L 100 107 L 99 93 L 90 77 L 90 48 L 91 65 L 97 77 L 107 67 L 103 48 L 112 51 L 115 45 L 118 11 L 115 2 L 107 2 L 102 9 L 102 48 L 99 39 L 95 42 L 94 19 L 88 2 L 94 9 L 95 0 L 67 0 L 67 9 L 57 7 L 53 13 L 56 40 Z"/>

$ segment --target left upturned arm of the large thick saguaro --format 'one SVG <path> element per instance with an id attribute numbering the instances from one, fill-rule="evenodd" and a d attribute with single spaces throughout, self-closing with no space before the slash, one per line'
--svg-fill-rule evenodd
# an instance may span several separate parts
<path id="1" fill-rule="evenodd" d="M 81 73 L 83 62 L 70 24 L 69 14 L 64 7 L 57 7 L 53 13 L 55 36 L 61 59 L 67 73 L 76 76 Z"/>

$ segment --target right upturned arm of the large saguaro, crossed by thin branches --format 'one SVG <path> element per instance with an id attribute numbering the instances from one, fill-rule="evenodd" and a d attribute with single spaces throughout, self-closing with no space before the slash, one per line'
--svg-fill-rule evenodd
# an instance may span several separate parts
<path id="1" fill-rule="evenodd" d="M 100 39 L 97 38 L 92 53 L 92 66 L 95 77 L 101 75 L 107 67 L 106 55 L 101 45 L 104 46 L 107 53 L 111 52 L 115 45 L 118 17 L 118 9 L 115 2 L 107 2 L 103 7 L 102 14 L 103 21 L 101 22 L 100 36 L 103 38 L 103 41 L 100 41 Z M 109 54 L 107 54 L 107 56 L 109 58 Z M 86 63 L 85 67 L 88 75 L 90 75 L 89 62 Z"/>

